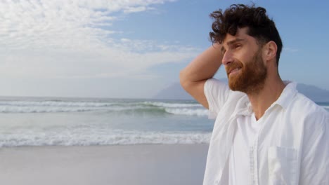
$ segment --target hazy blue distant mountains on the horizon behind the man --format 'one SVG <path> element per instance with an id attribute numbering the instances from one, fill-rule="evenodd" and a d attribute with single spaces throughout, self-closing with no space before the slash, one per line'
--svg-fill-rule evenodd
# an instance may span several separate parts
<path id="1" fill-rule="evenodd" d="M 227 81 L 224 79 L 224 81 Z M 299 93 L 309 97 L 309 99 L 314 102 L 329 102 L 329 90 L 323 90 L 321 88 L 317 88 L 314 85 L 306 85 L 303 83 L 297 84 L 297 90 Z M 188 95 L 179 83 L 173 83 L 169 85 L 169 87 L 161 90 L 154 97 L 155 99 L 165 99 L 165 100 L 191 100 L 193 97 Z"/>

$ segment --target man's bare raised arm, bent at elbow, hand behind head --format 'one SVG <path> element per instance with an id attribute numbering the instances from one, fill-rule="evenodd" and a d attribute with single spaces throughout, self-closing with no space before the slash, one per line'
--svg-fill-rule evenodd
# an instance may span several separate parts
<path id="1" fill-rule="evenodd" d="M 221 45 L 214 43 L 181 70 L 179 75 L 181 86 L 207 109 L 209 105 L 203 90 L 205 81 L 216 74 L 222 59 Z"/>

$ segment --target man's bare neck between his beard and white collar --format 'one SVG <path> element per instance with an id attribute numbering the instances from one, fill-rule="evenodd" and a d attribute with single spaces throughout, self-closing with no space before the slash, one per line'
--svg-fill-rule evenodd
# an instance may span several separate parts
<path id="1" fill-rule="evenodd" d="M 280 78 L 277 78 L 276 80 L 266 79 L 262 90 L 252 95 L 247 94 L 250 103 L 252 104 L 252 109 L 256 120 L 262 118 L 265 111 L 269 109 L 271 104 L 278 100 L 278 97 L 280 97 L 284 88 L 285 84 Z"/>

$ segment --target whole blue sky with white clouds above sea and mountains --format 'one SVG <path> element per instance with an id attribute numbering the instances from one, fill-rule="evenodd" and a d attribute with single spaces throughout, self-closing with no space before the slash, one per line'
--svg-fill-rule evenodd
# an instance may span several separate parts
<path id="1" fill-rule="evenodd" d="M 209 13 L 250 2 L 283 39 L 280 76 L 329 90 L 328 1 L 22 0 L 0 1 L 0 95 L 153 97 L 211 45 Z"/>

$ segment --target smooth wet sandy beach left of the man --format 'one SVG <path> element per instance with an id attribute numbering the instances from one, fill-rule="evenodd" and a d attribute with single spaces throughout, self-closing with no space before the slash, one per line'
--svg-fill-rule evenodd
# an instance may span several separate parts
<path id="1" fill-rule="evenodd" d="M 0 149 L 0 184 L 202 184 L 207 144 Z"/>

